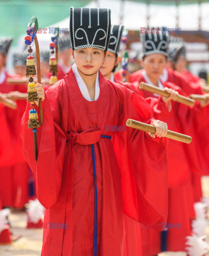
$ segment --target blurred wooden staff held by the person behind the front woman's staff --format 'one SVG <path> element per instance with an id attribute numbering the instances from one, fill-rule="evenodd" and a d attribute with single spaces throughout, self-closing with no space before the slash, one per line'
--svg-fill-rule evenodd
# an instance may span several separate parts
<path id="1" fill-rule="evenodd" d="M 160 89 L 157 86 L 146 84 L 146 83 L 143 83 L 143 82 L 140 83 L 139 88 L 141 90 L 145 90 L 145 91 L 148 91 L 148 92 L 157 93 L 157 94 L 161 95 L 162 97 L 168 98 L 168 97 L 171 96 L 170 93 L 164 91 L 163 89 Z M 176 100 L 174 100 L 174 101 L 180 102 L 180 103 L 182 103 L 184 105 L 187 105 L 189 107 L 194 107 L 194 105 L 195 105 L 194 100 L 189 99 L 187 97 L 184 97 L 182 95 L 177 95 Z"/>

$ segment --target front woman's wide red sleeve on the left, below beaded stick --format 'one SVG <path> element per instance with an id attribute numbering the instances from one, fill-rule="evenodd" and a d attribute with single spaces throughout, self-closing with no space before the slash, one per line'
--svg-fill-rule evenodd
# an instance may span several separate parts
<path id="1" fill-rule="evenodd" d="M 58 85 L 62 82 L 58 82 Z M 23 154 L 36 177 L 37 198 L 50 208 L 57 202 L 62 181 L 62 166 L 65 156 L 66 135 L 61 129 L 59 102 L 62 101 L 59 87 L 54 85 L 45 93 L 43 125 L 37 128 L 38 160 L 34 156 L 34 136 L 28 129 L 30 103 L 22 117 L 21 137 Z M 36 108 L 38 111 L 38 109 Z"/>

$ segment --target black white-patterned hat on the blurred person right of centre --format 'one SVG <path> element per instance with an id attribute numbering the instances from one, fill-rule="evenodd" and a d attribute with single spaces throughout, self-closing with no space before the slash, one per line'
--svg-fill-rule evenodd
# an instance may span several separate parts
<path id="1" fill-rule="evenodd" d="M 157 32 L 155 32 L 154 34 L 141 33 L 140 37 L 143 51 L 142 57 L 154 53 L 163 54 L 167 57 L 169 43 L 169 37 L 167 33 L 164 34 L 162 33 L 162 31 L 159 31 L 159 34 L 157 34 Z"/>

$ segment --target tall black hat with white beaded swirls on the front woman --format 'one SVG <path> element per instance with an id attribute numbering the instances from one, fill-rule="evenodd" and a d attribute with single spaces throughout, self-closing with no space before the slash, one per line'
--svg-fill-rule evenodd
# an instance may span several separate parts
<path id="1" fill-rule="evenodd" d="M 72 49 L 92 47 L 107 51 L 110 27 L 110 9 L 70 7 Z"/>

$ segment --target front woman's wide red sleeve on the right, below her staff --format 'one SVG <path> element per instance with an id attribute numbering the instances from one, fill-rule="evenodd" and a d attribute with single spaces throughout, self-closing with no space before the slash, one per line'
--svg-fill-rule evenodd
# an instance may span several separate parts
<path id="1" fill-rule="evenodd" d="M 122 173 L 124 213 L 161 229 L 168 207 L 166 139 L 152 139 L 145 132 L 125 126 L 128 118 L 149 124 L 153 110 L 136 93 L 121 89 L 118 125 L 125 128 L 116 132 L 112 141 Z"/>

